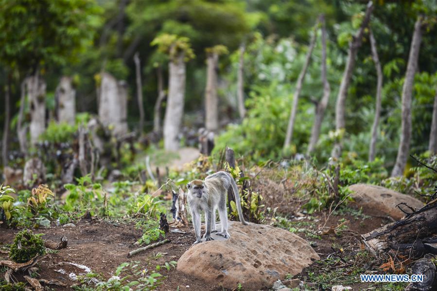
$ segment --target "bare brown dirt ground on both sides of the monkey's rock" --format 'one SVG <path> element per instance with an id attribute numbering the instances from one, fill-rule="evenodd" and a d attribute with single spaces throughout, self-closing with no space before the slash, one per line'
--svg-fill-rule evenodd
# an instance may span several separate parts
<path id="1" fill-rule="evenodd" d="M 297 223 L 302 225 L 302 228 L 307 231 L 297 232 L 297 235 L 311 241 L 313 248 L 320 257 L 334 255 L 336 252 L 333 246 L 353 245 L 359 247 L 359 235 L 367 233 L 381 225 L 389 222 L 388 219 L 381 217 L 357 216 L 351 214 L 331 216 L 326 223 L 327 227 L 336 227 L 341 222 L 348 227 L 342 232 L 341 236 L 329 232 L 322 235 L 321 240 L 318 238 L 308 237 L 308 234 L 315 231 L 317 227 L 323 225 L 328 216 L 328 212 L 318 213 L 316 216 L 309 218 L 297 218 Z M 15 234 L 19 230 L 0 229 L 0 247 L 12 243 Z M 62 236 L 68 238 L 68 247 L 59 250 L 55 253 L 44 255 L 39 262 L 39 278 L 56 279 L 68 286 L 78 283 L 70 278 L 70 273 L 84 274 L 84 270 L 70 265 L 75 263 L 87 266 L 91 272 L 101 274 L 105 280 L 110 278 L 116 268 L 123 262 L 139 261 L 141 268 L 154 269 L 156 265 L 163 265 L 165 262 L 177 261 L 179 257 L 190 248 L 194 241 L 192 228 L 186 229 L 186 234 L 168 233 L 166 238 L 171 242 L 160 245 L 153 249 L 147 250 L 132 258 L 127 258 L 127 254 L 138 248 L 134 245 L 137 239 L 141 236 L 141 231 L 137 230 L 134 222 L 128 224 L 109 224 L 102 221 L 79 222 L 76 227 L 51 227 L 45 229 L 37 229 L 35 233 L 43 234 L 44 239 L 58 241 Z M 163 256 L 155 258 L 157 253 L 162 253 Z M 2 259 L 6 259 L 6 255 L 0 255 Z M 67 263 L 67 264 L 66 264 Z M 316 264 L 316 263 L 315 263 Z M 60 273 L 62 269 L 65 272 Z M 157 287 L 157 290 L 223 290 L 220 286 L 211 286 L 202 280 L 187 276 L 177 272 L 175 269 L 167 271 L 161 269 L 160 272 L 165 276 L 162 283 Z M 295 276 L 301 280 L 306 280 L 307 272 L 304 270 L 301 274 Z M 21 281 L 22 278 L 18 277 Z M 335 282 L 332 282 L 333 285 Z M 310 283 L 311 286 L 311 283 Z M 317 289 L 316 286 L 314 286 Z M 363 289 L 367 286 L 357 282 L 351 286 L 354 289 Z M 57 288 L 55 290 L 72 290 L 71 288 Z M 267 290 L 267 288 L 266 288 Z"/>

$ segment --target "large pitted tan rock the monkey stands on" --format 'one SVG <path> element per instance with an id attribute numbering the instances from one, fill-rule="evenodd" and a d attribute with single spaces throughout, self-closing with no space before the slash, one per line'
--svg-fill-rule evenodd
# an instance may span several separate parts
<path id="1" fill-rule="evenodd" d="M 269 225 L 230 222 L 229 234 L 230 239 L 214 234 L 215 240 L 192 246 L 177 270 L 228 289 L 241 283 L 245 290 L 260 290 L 319 259 L 303 238 Z"/>

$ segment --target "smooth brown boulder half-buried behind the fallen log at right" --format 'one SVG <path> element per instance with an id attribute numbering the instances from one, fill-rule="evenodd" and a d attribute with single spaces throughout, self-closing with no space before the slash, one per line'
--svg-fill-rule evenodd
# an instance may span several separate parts
<path id="1" fill-rule="evenodd" d="M 349 186 L 349 189 L 354 192 L 351 197 L 365 209 L 367 214 L 385 214 L 398 220 L 405 216 L 396 207 L 399 203 L 406 203 L 413 208 L 421 208 L 424 205 L 414 197 L 381 186 L 354 184 Z"/>

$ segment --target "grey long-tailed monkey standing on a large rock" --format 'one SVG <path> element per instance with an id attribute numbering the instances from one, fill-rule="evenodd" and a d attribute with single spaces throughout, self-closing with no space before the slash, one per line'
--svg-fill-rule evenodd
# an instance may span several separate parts
<path id="1" fill-rule="evenodd" d="M 218 209 L 220 216 L 220 223 L 222 230 L 217 232 L 218 236 L 229 238 L 227 232 L 227 208 L 226 208 L 226 194 L 227 189 L 232 186 L 235 193 L 235 203 L 237 204 L 238 217 L 241 223 L 248 225 L 243 218 L 243 211 L 241 210 L 240 195 L 238 193 L 237 184 L 234 178 L 227 172 L 217 172 L 202 180 L 193 180 L 187 183 L 188 189 L 188 205 L 192 213 L 192 224 L 196 234 L 197 244 L 202 242 L 200 238 L 200 211 L 205 211 L 206 233 L 203 236 L 205 241 L 214 240 L 211 237 L 211 232 L 217 232 L 215 229 L 215 210 Z"/>

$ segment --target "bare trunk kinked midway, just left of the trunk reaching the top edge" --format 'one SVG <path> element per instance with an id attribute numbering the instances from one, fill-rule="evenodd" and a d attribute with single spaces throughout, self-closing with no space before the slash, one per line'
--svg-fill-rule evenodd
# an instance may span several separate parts
<path id="1" fill-rule="evenodd" d="M 311 154 L 320 136 L 320 128 L 322 127 L 322 121 L 325 117 L 325 110 L 328 107 L 329 95 L 331 94 L 331 88 L 329 86 L 328 78 L 326 76 L 326 27 L 325 16 L 320 16 L 320 22 L 322 23 L 322 63 L 321 63 L 321 76 L 323 82 L 323 96 L 320 102 L 317 103 L 315 108 L 315 119 L 313 129 L 311 130 L 310 144 L 308 145 L 307 154 Z"/>

